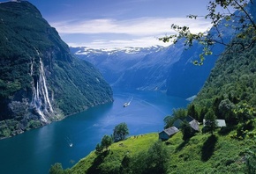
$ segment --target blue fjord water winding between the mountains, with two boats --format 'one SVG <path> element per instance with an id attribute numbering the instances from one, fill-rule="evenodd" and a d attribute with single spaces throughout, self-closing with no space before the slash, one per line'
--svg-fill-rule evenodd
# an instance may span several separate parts
<path id="1" fill-rule="evenodd" d="M 54 163 L 70 168 L 94 150 L 104 134 L 112 134 L 117 124 L 125 122 L 130 135 L 159 132 L 164 117 L 172 109 L 188 104 L 183 98 L 156 91 L 115 90 L 114 99 L 112 104 L 96 106 L 46 127 L 1 140 L 0 173 L 44 174 Z M 131 105 L 123 107 L 131 99 Z"/>

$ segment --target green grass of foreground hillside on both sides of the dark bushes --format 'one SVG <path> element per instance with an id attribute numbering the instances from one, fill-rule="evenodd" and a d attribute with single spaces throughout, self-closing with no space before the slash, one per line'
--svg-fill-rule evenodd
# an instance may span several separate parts
<path id="1" fill-rule="evenodd" d="M 253 149 L 255 142 L 248 137 L 245 140 L 231 138 L 235 130 L 225 135 L 219 133 L 220 129 L 214 135 L 198 133 L 189 141 L 183 141 L 183 134 L 179 132 L 163 141 L 169 154 L 168 173 L 245 173 L 244 152 Z M 100 169 L 101 173 L 119 173 L 124 156 L 134 159 L 140 152 L 147 153 L 156 141 L 157 133 L 132 136 L 113 143 L 102 155 L 91 152 L 66 171 L 93 173 Z"/>

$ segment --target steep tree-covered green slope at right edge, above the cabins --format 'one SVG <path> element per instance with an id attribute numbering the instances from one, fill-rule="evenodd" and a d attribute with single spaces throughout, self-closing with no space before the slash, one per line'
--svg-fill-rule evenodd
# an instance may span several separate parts
<path id="1" fill-rule="evenodd" d="M 253 37 L 251 34 L 244 40 L 236 39 L 234 42 L 249 43 Z M 219 105 L 221 100 L 229 99 L 234 104 L 255 105 L 255 55 L 255 44 L 247 49 L 236 46 L 231 52 L 222 54 L 194 103 L 201 106 Z"/>

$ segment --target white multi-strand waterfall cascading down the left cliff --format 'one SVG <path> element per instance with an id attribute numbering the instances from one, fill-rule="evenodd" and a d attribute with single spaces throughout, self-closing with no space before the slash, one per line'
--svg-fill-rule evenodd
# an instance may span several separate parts
<path id="1" fill-rule="evenodd" d="M 34 111 L 40 115 L 41 120 L 44 122 L 47 122 L 48 121 L 47 116 L 49 116 L 54 111 L 49 100 L 49 91 L 47 89 L 46 77 L 43 69 L 43 63 L 41 62 L 41 56 L 38 50 L 36 50 L 36 52 L 40 58 L 40 67 L 39 67 L 40 75 L 34 76 L 33 98 L 30 105 L 34 109 Z M 32 62 L 31 62 L 30 75 L 31 76 L 34 75 L 34 59 L 32 59 Z"/>

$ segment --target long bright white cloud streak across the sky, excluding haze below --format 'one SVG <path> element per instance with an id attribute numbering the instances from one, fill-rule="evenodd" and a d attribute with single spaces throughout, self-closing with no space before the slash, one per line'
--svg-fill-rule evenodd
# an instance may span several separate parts
<path id="1" fill-rule="evenodd" d="M 115 20 L 111 18 L 84 20 L 81 22 L 64 21 L 52 23 L 59 33 L 124 33 L 129 35 L 155 35 L 170 33 L 170 25 L 188 25 L 193 32 L 203 32 L 210 24 L 206 20 L 190 18 L 135 18 Z"/>

